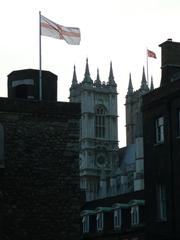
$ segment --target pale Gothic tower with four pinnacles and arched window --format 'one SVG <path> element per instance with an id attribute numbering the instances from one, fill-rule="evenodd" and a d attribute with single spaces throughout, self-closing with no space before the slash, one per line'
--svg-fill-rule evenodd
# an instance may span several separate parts
<path id="1" fill-rule="evenodd" d="M 88 59 L 84 79 L 78 83 L 74 67 L 70 102 L 81 103 L 80 181 L 86 200 L 111 194 L 111 173 L 118 162 L 117 85 L 112 63 L 108 82 L 101 82 L 99 70 L 91 79 Z"/>

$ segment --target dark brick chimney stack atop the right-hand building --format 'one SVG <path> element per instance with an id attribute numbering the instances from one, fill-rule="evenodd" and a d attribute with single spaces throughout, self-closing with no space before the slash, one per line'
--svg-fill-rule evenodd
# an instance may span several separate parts
<path id="1" fill-rule="evenodd" d="M 161 47 L 161 86 L 180 80 L 180 43 L 169 38 Z"/>

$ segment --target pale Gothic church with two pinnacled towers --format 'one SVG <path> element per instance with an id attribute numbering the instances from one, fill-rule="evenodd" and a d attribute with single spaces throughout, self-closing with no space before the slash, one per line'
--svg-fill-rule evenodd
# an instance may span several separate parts
<path id="1" fill-rule="evenodd" d="M 127 146 L 118 146 L 117 85 L 112 63 L 108 82 L 91 79 L 88 60 L 82 82 L 74 67 L 70 102 L 81 103 L 80 179 L 86 200 L 144 189 L 142 96 L 149 88 L 143 68 L 141 86 L 134 91 L 131 75 L 126 95 Z"/>

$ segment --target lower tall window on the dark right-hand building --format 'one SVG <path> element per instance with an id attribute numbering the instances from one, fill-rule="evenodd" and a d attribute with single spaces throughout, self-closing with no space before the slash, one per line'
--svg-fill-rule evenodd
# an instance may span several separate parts
<path id="1" fill-rule="evenodd" d="M 167 193 L 164 184 L 157 185 L 158 220 L 167 221 Z"/>

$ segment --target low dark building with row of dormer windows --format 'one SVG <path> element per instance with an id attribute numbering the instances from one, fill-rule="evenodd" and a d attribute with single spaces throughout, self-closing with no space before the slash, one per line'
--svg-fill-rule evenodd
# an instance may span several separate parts
<path id="1" fill-rule="evenodd" d="M 86 202 L 82 211 L 83 239 L 144 240 L 144 191 Z"/>

